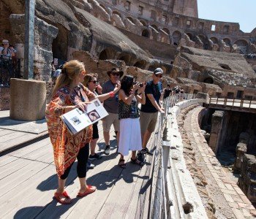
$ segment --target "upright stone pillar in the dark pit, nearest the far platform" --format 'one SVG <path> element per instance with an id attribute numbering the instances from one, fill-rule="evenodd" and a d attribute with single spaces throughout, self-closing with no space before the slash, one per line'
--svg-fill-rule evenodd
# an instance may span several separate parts
<path id="1" fill-rule="evenodd" d="M 219 147 L 221 147 L 222 143 L 224 142 L 222 136 L 223 128 L 223 120 L 225 117 L 225 112 L 217 110 L 214 112 L 211 118 L 211 135 L 209 140 L 209 146 L 217 154 Z"/>

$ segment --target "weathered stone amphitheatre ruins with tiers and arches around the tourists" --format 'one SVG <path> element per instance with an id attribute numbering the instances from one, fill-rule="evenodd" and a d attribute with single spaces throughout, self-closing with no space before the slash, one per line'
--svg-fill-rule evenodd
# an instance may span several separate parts
<path id="1" fill-rule="evenodd" d="M 0 39 L 9 39 L 17 50 L 19 74 L 15 77 L 19 78 L 24 73 L 24 2 L 0 0 Z M 185 93 L 205 99 L 205 108 L 181 107 L 184 111 L 177 114 L 177 128 L 184 128 L 186 162 L 191 164 L 189 171 L 208 217 L 232 218 L 231 211 L 236 218 L 241 212 L 255 217 L 250 202 L 251 209 L 238 210 L 242 201 L 235 191 L 256 204 L 256 108 L 252 107 L 256 101 L 256 28 L 244 33 L 239 23 L 200 19 L 196 0 L 37 0 L 35 16 L 34 79 L 46 82 L 47 96 L 53 88 L 51 62 L 58 66 L 75 58 L 83 61 L 88 72 L 99 74 L 100 82 L 114 66 L 140 81 L 149 80 L 151 72 L 161 67 L 164 86 L 178 85 Z M 0 110 L 10 109 L 7 80 L 1 73 Z M 200 142 L 191 132 L 190 120 L 198 126 L 194 128 Z M 205 172 L 212 170 L 215 178 L 225 178 L 222 166 L 229 174 L 237 174 L 233 180 L 238 186 L 229 188 L 225 179 L 224 183 L 210 182 L 219 186 L 217 196 L 208 188 Z M 224 201 L 227 207 L 221 209 L 220 197 L 233 204 Z M 248 202 L 246 197 L 243 200 Z"/>

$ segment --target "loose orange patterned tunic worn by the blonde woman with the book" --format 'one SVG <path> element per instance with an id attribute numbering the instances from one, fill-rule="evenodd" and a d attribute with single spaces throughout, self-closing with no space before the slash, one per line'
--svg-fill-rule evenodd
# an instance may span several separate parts
<path id="1" fill-rule="evenodd" d="M 88 126 L 72 136 L 62 122 L 60 115 L 64 114 L 64 107 L 92 99 L 95 99 L 95 94 L 81 84 L 75 87 L 72 92 L 70 92 L 69 87 L 62 87 L 59 88 L 46 107 L 45 117 L 59 177 L 75 161 L 80 148 L 89 143 L 92 137 L 92 126 Z"/>

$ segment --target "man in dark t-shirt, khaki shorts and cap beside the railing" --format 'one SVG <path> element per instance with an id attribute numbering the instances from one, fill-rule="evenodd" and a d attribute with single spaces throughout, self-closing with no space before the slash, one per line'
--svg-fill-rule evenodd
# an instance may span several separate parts
<path id="1" fill-rule="evenodd" d="M 141 105 L 140 110 L 140 131 L 143 142 L 141 153 L 147 153 L 149 155 L 152 155 L 152 153 L 149 152 L 146 145 L 157 124 L 158 112 L 165 112 L 159 102 L 162 94 L 162 83 L 160 82 L 162 74 L 163 71 L 161 68 L 155 69 L 152 74 L 153 80 L 146 83 L 146 103 Z"/>

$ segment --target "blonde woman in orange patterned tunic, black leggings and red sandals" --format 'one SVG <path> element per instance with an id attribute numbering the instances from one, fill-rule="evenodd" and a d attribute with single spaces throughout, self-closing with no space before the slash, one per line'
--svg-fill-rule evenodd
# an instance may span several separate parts
<path id="1" fill-rule="evenodd" d="M 96 191 L 95 186 L 86 184 L 86 164 L 89 157 L 92 126 L 86 127 L 73 136 L 60 118 L 65 112 L 75 108 L 86 111 L 86 105 L 95 99 L 95 94 L 81 83 L 85 75 L 86 69 L 80 61 L 72 60 L 64 64 L 61 75 L 57 78 L 53 88 L 52 99 L 46 109 L 46 120 L 59 181 L 54 197 L 61 204 L 72 202 L 67 191 L 64 191 L 64 185 L 76 158 L 78 158 L 77 172 L 80 181 L 78 196 L 83 197 Z"/>

